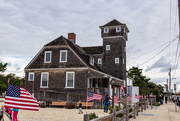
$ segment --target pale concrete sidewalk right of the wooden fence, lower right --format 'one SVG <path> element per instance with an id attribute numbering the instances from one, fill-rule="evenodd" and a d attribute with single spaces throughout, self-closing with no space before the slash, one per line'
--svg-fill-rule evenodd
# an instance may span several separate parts
<path id="1" fill-rule="evenodd" d="M 180 120 L 180 107 L 177 107 L 175 112 L 175 104 L 168 103 L 159 106 L 157 109 L 146 109 L 139 113 L 136 119 L 130 121 L 179 121 Z"/>

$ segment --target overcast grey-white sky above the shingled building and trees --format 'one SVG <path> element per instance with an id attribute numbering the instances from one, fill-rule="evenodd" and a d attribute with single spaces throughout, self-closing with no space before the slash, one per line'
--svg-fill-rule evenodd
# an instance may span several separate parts
<path id="1" fill-rule="evenodd" d="M 180 80 L 179 66 L 175 73 L 178 39 L 159 52 L 178 36 L 177 1 L 0 0 L 0 62 L 8 62 L 4 74 L 24 77 L 25 66 L 45 44 L 71 32 L 80 46 L 101 46 L 99 26 L 116 19 L 130 30 L 127 70 L 139 67 L 152 82 L 164 85 L 171 67 L 173 88 Z"/>

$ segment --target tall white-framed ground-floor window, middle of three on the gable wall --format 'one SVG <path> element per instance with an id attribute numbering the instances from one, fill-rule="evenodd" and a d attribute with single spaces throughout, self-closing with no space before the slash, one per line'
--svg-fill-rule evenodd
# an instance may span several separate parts
<path id="1" fill-rule="evenodd" d="M 41 72 L 41 88 L 48 88 L 49 73 Z"/>

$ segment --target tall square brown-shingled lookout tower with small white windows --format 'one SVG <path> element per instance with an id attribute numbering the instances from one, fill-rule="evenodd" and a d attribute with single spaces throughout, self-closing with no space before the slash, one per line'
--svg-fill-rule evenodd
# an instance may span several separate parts
<path id="1" fill-rule="evenodd" d="M 126 41 L 129 29 L 116 19 L 100 26 L 103 38 L 102 70 L 114 77 L 126 79 Z"/>

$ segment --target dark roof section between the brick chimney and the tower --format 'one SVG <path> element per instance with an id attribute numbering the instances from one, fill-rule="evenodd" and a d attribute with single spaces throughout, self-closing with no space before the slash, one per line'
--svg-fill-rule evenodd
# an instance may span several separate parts
<path id="1" fill-rule="evenodd" d="M 87 54 L 102 54 L 103 46 L 82 47 Z"/>

